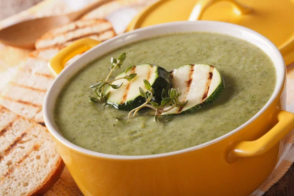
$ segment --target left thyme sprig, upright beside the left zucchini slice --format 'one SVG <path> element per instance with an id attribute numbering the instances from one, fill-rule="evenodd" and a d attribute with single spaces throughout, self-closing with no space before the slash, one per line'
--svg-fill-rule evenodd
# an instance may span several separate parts
<path id="1" fill-rule="evenodd" d="M 125 52 L 123 52 L 117 59 L 111 57 L 110 63 L 112 65 L 110 68 L 108 68 L 110 70 L 110 72 L 108 73 L 107 77 L 105 79 L 100 79 L 99 82 L 92 84 L 89 87 L 94 91 L 95 96 L 96 96 L 96 97 L 89 96 L 90 101 L 98 101 L 100 103 L 105 103 L 105 101 L 109 95 L 109 93 L 105 94 L 105 86 L 106 85 L 110 85 L 113 89 L 118 89 L 123 85 L 123 82 L 120 84 L 112 84 L 112 82 L 120 80 L 120 79 L 126 79 L 127 81 L 131 81 L 132 79 L 134 79 L 136 77 L 137 73 L 131 73 L 131 74 L 127 75 L 127 72 L 133 67 L 133 66 L 130 66 L 130 67 L 126 68 L 125 75 L 123 77 L 109 80 L 111 74 L 117 68 L 121 69 L 121 66 L 122 66 L 125 58 L 126 58 Z"/>

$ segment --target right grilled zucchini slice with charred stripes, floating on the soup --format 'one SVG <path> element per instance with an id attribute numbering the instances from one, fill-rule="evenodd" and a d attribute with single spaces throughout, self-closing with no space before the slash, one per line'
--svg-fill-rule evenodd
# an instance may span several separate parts
<path id="1" fill-rule="evenodd" d="M 179 101 L 188 100 L 188 102 L 183 107 L 173 108 L 161 115 L 192 113 L 211 104 L 224 89 L 220 72 L 211 65 L 183 65 L 173 70 L 171 74 L 172 88 L 178 88 L 182 93 Z"/>

